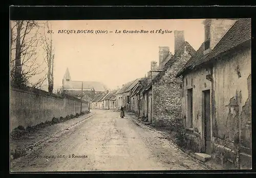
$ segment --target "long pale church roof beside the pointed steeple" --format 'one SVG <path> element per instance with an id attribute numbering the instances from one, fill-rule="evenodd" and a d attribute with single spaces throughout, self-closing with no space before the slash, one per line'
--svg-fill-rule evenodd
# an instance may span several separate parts
<path id="1" fill-rule="evenodd" d="M 81 89 L 91 90 L 94 89 L 96 92 L 106 91 L 106 87 L 101 82 L 96 81 L 65 81 L 63 83 L 63 89 L 72 88 L 72 89 Z"/>

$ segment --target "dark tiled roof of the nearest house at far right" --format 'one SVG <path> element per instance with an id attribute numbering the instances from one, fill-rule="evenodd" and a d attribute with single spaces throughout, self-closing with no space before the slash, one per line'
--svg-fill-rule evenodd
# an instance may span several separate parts
<path id="1" fill-rule="evenodd" d="M 219 56 L 220 54 L 227 52 L 228 50 L 237 47 L 251 39 L 251 20 L 250 18 L 240 18 L 234 23 L 234 25 L 227 31 L 227 33 L 216 44 L 215 48 L 203 56 L 204 43 L 198 49 L 196 54 L 192 56 L 187 63 L 183 66 L 177 77 L 183 74 L 185 70 L 192 70 L 196 66 L 208 62 L 210 59 Z"/>

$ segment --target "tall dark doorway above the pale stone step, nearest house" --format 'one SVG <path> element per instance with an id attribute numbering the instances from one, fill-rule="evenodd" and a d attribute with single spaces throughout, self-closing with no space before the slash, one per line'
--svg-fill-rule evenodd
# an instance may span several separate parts
<path id="1" fill-rule="evenodd" d="M 202 107 L 203 152 L 211 154 L 210 90 L 203 91 Z"/>

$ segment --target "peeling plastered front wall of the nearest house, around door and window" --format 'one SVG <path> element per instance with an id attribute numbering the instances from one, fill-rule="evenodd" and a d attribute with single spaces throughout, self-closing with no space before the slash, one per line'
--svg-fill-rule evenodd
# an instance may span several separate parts
<path id="1" fill-rule="evenodd" d="M 212 157 L 229 168 L 250 168 L 251 50 L 236 48 L 217 61 L 211 69 L 201 68 L 183 77 L 182 116 L 188 123 L 186 95 L 193 88 L 191 129 L 203 139 L 202 92 L 210 90 Z M 206 79 L 210 73 L 212 82 Z"/>

